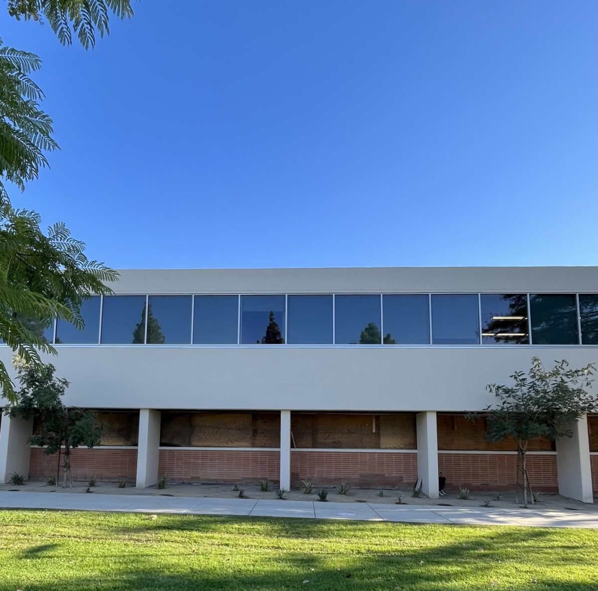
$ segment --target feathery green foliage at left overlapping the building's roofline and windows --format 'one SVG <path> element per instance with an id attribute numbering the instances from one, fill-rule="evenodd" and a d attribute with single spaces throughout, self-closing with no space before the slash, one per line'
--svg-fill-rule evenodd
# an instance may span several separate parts
<path id="1" fill-rule="evenodd" d="M 65 224 L 54 224 L 44 234 L 39 223 L 35 212 L 0 204 L 0 339 L 33 368 L 43 365 L 39 351 L 56 353 L 41 327 L 62 318 L 82 328 L 82 301 L 90 294 L 112 293 L 105 283 L 118 278 L 86 257 L 85 244 L 72 238 Z M 13 383 L 2 362 L 0 386 L 13 400 Z"/>

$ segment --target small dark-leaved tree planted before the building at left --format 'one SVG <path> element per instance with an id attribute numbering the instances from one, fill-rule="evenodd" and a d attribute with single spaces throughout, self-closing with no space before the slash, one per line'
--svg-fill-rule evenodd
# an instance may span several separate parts
<path id="1" fill-rule="evenodd" d="M 4 412 L 11 417 L 40 419 L 41 427 L 29 441 L 36 446 L 47 446 L 48 455 L 64 448 L 63 486 L 71 487 L 71 450 L 80 445 L 91 448 L 99 444 L 102 428 L 91 410 L 63 404 L 61 397 L 69 383 L 54 377 L 54 365 L 28 365 L 18 357 L 14 365 L 22 388 L 17 392 L 16 404 L 5 407 Z"/>

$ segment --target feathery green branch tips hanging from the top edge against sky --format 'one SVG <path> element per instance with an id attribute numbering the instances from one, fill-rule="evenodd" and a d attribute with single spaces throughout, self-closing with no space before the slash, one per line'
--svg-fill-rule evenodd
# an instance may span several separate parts
<path id="1" fill-rule="evenodd" d="M 86 49 L 96 44 L 96 34 L 109 35 L 110 13 L 121 20 L 133 16 L 130 0 L 8 0 L 8 14 L 17 20 L 47 22 L 63 45 L 75 33 Z"/>

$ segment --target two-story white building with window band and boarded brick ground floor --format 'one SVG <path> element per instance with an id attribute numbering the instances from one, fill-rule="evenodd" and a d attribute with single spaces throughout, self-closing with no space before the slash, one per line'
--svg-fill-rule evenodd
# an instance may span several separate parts
<path id="1" fill-rule="evenodd" d="M 349 480 L 513 488 L 512 444 L 463 413 L 493 403 L 533 356 L 598 362 L 596 267 L 125 270 L 114 296 L 58 322 L 65 402 L 99 411 L 102 446 L 77 449 L 74 476 L 255 482 Z M 145 310 L 149 310 L 146 314 Z M 0 346 L 9 365 L 11 351 Z M 594 387 L 594 392 L 596 392 Z M 538 490 L 591 502 L 598 417 L 536 441 Z M 33 422 L 2 418 L 0 482 L 56 473 Z"/>

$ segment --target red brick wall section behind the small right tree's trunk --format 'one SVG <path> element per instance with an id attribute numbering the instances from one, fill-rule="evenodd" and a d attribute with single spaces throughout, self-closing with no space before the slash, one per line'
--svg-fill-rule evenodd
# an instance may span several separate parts
<path id="1" fill-rule="evenodd" d="M 447 489 L 466 486 L 478 491 L 512 490 L 517 455 L 507 453 L 439 453 L 438 470 L 447 479 Z M 527 473 L 532 491 L 558 491 L 556 455 L 527 455 Z"/>

